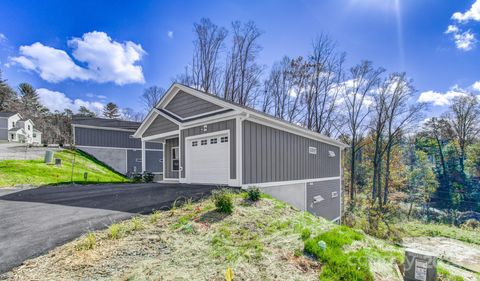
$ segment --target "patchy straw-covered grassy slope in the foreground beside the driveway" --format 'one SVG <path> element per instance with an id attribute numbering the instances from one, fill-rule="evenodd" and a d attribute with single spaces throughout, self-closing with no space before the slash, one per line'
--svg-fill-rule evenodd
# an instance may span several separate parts
<path id="1" fill-rule="evenodd" d="M 319 279 L 323 265 L 303 252 L 302 236 L 339 226 L 271 198 L 252 204 L 236 195 L 234 204 L 231 215 L 207 199 L 115 224 L 27 261 L 8 278 L 225 280 L 231 267 L 234 280 Z M 376 280 L 399 280 L 392 257 L 401 250 L 360 235 L 343 251 L 361 249 Z"/>

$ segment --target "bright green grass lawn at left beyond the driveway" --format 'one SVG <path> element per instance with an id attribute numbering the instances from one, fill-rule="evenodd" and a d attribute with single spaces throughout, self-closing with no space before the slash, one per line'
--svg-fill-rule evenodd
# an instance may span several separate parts
<path id="1" fill-rule="evenodd" d="M 129 180 L 103 163 L 80 151 L 63 150 L 55 153 L 62 165 L 47 165 L 38 160 L 0 161 L 0 187 L 16 185 L 54 185 L 72 182 L 72 161 L 75 156 L 73 181 L 75 183 L 117 183 Z M 87 180 L 84 173 L 88 172 Z"/>

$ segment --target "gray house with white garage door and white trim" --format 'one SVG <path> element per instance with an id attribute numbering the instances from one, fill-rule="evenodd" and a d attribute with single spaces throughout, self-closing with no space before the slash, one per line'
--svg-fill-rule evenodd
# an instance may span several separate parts
<path id="1" fill-rule="evenodd" d="M 141 140 L 142 170 L 149 143 L 163 144 L 165 180 L 257 186 L 302 210 L 340 218 L 345 145 L 324 135 L 173 84 L 133 137 Z"/>

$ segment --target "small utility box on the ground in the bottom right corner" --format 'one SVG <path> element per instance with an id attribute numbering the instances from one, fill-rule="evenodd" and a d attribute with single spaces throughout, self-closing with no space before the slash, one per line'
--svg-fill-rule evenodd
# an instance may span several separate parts
<path id="1" fill-rule="evenodd" d="M 404 272 L 406 281 L 435 281 L 437 280 L 437 257 L 428 252 L 406 249 Z"/>

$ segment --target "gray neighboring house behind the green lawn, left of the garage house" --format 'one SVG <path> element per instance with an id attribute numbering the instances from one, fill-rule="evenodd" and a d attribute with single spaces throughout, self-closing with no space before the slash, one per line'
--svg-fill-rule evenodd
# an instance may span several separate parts
<path id="1" fill-rule="evenodd" d="M 76 148 L 94 156 L 119 173 L 142 170 L 163 174 L 163 145 L 161 142 L 142 142 L 133 138 L 141 123 L 115 119 L 74 116 L 73 139 Z M 143 169 L 142 169 L 143 167 Z"/>

